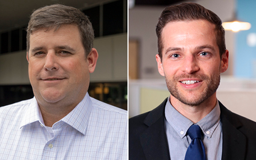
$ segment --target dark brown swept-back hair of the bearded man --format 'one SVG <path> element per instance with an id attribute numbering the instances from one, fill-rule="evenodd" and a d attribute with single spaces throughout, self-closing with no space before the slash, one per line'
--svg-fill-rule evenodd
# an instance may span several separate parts
<path id="1" fill-rule="evenodd" d="M 217 14 L 205 9 L 202 5 L 196 3 L 181 3 L 180 5 L 173 5 L 166 7 L 159 17 L 156 26 L 158 54 L 162 59 L 163 41 L 162 31 L 165 25 L 172 21 L 185 20 L 207 20 L 215 25 L 217 45 L 220 51 L 220 57 L 226 51 L 225 44 L 225 30 L 222 27 L 222 21 Z"/>

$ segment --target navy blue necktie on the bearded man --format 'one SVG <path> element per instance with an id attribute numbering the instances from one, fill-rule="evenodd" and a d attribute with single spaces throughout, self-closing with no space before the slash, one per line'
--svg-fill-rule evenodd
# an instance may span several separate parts
<path id="1" fill-rule="evenodd" d="M 185 160 L 205 160 L 205 148 L 201 140 L 201 128 L 193 124 L 189 127 L 187 133 L 191 138 L 191 143 L 188 146 Z"/>

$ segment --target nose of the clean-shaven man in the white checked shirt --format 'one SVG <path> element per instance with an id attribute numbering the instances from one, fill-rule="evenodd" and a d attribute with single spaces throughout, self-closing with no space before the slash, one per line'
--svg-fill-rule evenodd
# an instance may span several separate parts
<path id="1" fill-rule="evenodd" d="M 47 53 L 45 57 L 45 64 L 44 68 L 46 71 L 54 71 L 59 69 L 57 55 L 55 55 L 55 52 L 49 52 Z"/>

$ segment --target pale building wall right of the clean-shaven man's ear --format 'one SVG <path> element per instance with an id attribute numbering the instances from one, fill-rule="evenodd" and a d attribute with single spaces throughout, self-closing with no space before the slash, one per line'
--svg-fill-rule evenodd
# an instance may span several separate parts
<path id="1" fill-rule="evenodd" d="M 127 34 L 95 38 L 99 53 L 91 82 L 127 81 Z"/>

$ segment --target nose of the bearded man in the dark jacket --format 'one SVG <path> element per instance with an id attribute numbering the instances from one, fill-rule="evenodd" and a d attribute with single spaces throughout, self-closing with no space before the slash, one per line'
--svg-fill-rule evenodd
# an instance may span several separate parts
<path id="1" fill-rule="evenodd" d="M 194 55 L 187 55 L 182 66 L 182 71 L 187 74 L 193 74 L 199 70 L 198 62 Z"/>

